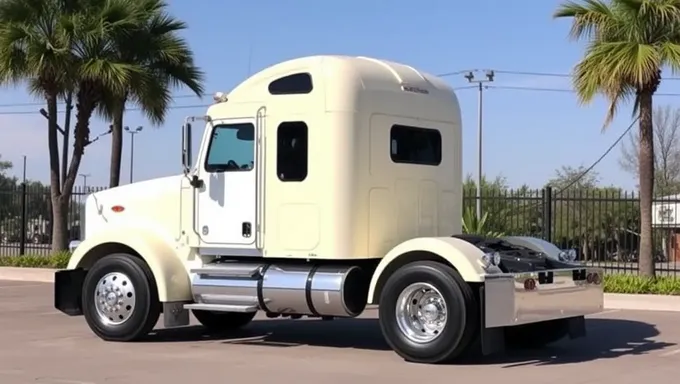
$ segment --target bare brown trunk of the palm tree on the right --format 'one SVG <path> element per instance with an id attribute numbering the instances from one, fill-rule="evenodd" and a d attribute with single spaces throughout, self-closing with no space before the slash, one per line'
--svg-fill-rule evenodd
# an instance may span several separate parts
<path id="1" fill-rule="evenodd" d="M 654 276 L 652 241 L 652 199 L 654 196 L 654 127 L 652 92 L 639 93 L 640 101 L 640 255 L 638 272 Z"/>

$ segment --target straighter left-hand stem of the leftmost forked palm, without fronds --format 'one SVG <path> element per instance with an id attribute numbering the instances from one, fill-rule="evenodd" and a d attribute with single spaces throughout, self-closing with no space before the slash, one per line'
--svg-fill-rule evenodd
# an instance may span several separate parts
<path id="1" fill-rule="evenodd" d="M 52 252 L 68 249 L 67 214 L 61 204 L 61 180 L 59 177 L 59 142 L 57 138 L 57 93 L 48 92 L 47 97 L 47 145 L 50 152 L 50 200 L 52 202 Z"/>

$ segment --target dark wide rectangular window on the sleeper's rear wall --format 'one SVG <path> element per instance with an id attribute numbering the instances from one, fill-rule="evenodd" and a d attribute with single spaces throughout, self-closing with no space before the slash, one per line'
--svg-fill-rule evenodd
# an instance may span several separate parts
<path id="1" fill-rule="evenodd" d="M 393 125 L 390 157 L 395 163 L 439 165 L 442 162 L 441 133 L 436 129 Z"/>

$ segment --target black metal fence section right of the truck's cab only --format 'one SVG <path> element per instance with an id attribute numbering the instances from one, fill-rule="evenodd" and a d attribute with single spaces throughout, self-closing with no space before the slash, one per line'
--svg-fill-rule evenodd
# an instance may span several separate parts
<path id="1" fill-rule="evenodd" d="M 578 258 L 610 271 L 637 273 L 640 200 L 615 188 L 595 190 L 465 191 L 463 224 L 469 232 L 526 235 L 573 248 Z M 653 257 L 657 275 L 680 277 L 680 195 L 658 197 L 652 206 Z"/>

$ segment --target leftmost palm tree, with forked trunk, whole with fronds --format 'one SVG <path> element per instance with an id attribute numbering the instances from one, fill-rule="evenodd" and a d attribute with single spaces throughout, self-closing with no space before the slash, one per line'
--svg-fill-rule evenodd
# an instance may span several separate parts
<path id="1" fill-rule="evenodd" d="M 118 60 L 111 41 L 138 21 L 133 0 L 3 0 L 0 2 L 0 83 L 27 84 L 48 113 L 52 250 L 67 248 L 68 207 L 85 147 L 90 118 L 103 90 L 122 89 L 140 72 Z M 76 101 L 73 155 L 60 182 L 57 104 Z"/>

